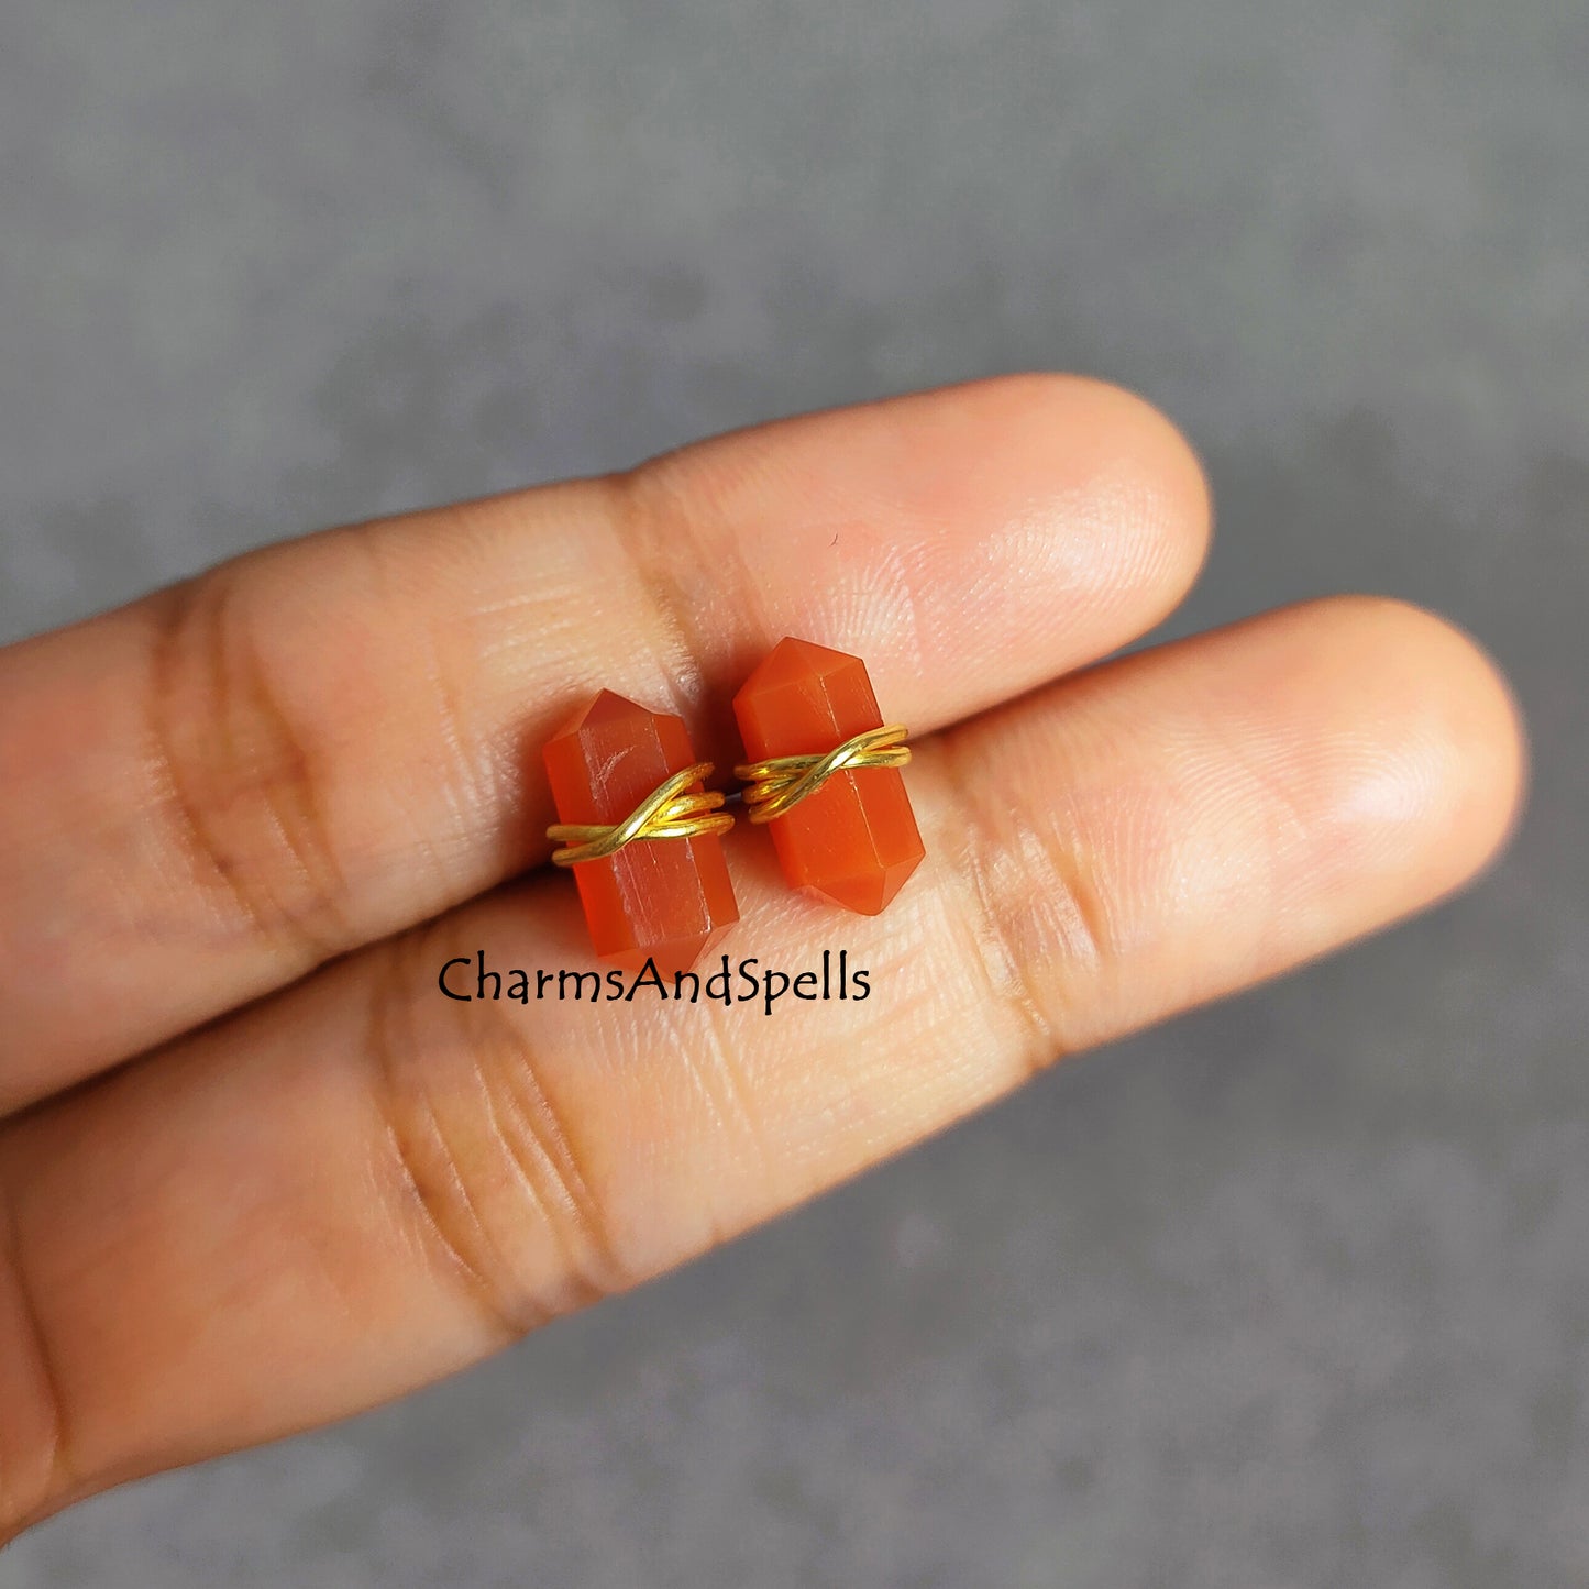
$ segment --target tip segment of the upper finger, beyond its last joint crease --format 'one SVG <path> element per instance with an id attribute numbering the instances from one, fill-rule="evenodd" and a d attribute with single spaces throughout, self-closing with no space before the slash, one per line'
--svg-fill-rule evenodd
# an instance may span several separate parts
<path id="1" fill-rule="evenodd" d="M 864 655 L 917 731 L 1136 640 L 1208 553 L 1197 453 L 1144 397 L 1085 375 L 780 419 L 624 481 L 626 545 L 675 628 L 736 667 L 782 634 Z"/>

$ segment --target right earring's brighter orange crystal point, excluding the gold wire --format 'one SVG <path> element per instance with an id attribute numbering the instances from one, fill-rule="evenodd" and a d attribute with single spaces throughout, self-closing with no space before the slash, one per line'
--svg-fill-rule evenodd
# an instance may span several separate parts
<path id="1" fill-rule="evenodd" d="M 882 728 L 858 656 L 809 640 L 779 640 L 734 696 L 750 761 L 822 755 Z M 926 853 L 898 767 L 836 772 L 767 823 L 783 876 L 836 904 L 877 915 Z"/>

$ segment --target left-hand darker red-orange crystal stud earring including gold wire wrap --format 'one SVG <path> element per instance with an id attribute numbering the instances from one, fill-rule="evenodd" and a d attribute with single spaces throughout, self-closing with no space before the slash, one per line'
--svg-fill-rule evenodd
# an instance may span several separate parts
<path id="1" fill-rule="evenodd" d="M 575 712 L 542 756 L 559 822 L 551 860 L 578 885 L 596 953 L 626 971 L 688 971 L 739 920 L 720 834 L 734 826 L 707 790 L 683 718 L 610 690 Z"/>

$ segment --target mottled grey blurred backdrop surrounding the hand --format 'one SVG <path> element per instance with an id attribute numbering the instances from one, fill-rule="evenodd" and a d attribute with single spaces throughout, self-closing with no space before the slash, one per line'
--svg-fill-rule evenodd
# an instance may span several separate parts
<path id="1" fill-rule="evenodd" d="M 1066 365 L 1530 717 L 1484 885 L 10 1586 L 1589 1581 L 1583 0 L 5 0 L 0 631 Z"/>

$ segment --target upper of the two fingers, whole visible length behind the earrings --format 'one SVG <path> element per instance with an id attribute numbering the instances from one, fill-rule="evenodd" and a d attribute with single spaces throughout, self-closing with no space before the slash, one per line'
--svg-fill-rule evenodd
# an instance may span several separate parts
<path id="1" fill-rule="evenodd" d="M 799 634 L 942 726 L 1112 650 L 1201 563 L 1185 443 L 1015 377 L 265 548 L 0 653 L 0 1109 L 543 858 L 534 755 L 610 686 L 734 760 Z"/>

